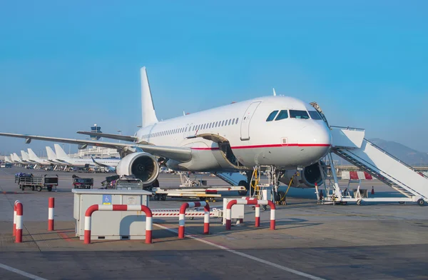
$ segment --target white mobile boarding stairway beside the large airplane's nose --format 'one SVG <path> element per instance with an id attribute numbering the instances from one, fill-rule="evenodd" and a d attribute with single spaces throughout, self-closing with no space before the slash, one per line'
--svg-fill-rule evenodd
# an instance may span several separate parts
<path id="1" fill-rule="evenodd" d="M 333 201 L 383 201 L 383 202 L 417 202 L 420 206 L 428 203 L 428 177 L 412 169 L 396 157 L 388 154 L 372 142 L 365 139 L 364 129 L 330 126 L 332 133 L 332 153 L 366 171 L 388 186 L 391 186 L 404 197 L 397 198 L 362 198 L 342 196 L 337 181 L 335 166 L 331 154 L 328 154 L 334 179 L 333 194 L 326 199 Z M 326 186 L 326 184 L 325 184 Z"/>

